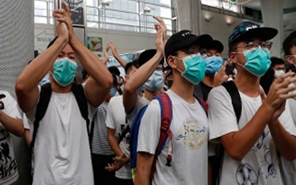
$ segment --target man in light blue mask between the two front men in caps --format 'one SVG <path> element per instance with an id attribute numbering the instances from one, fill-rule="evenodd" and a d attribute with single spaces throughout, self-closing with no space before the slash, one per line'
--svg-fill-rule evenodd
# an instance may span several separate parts
<path id="1" fill-rule="evenodd" d="M 221 53 L 224 49 L 223 44 L 219 40 L 212 40 L 206 47 L 207 53 L 204 58 L 207 64 L 206 75 L 203 80 L 194 86 L 194 95 L 199 96 L 204 101 L 207 101 L 208 94 L 213 87 L 221 85 L 227 80 L 226 64 L 223 65 Z"/>

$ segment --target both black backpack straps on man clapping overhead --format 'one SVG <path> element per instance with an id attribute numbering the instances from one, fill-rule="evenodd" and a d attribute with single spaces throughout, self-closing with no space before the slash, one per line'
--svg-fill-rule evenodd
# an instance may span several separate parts
<path id="1" fill-rule="evenodd" d="M 86 99 L 86 96 L 84 93 L 84 89 L 83 89 L 82 85 L 77 84 L 77 83 L 73 83 L 72 87 L 71 87 L 71 91 L 74 94 L 74 97 L 75 97 L 76 102 L 79 107 L 79 111 L 80 111 L 82 117 L 86 121 L 87 134 L 88 134 L 90 149 L 91 149 L 91 138 L 92 137 L 90 137 L 90 133 L 89 133 L 90 121 L 88 119 L 88 105 L 87 105 L 87 99 Z M 41 86 L 39 102 L 37 104 L 37 109 L 36 109 L 36 113 L 35 113 L 33 138 L 32 138 L 31 144 L 30 144 L 30 151 L 31 152 L 32 152 L 34 145 L 35 145 L 39 122 L 43 118 L 43 116 L 45 115 L 45 112 L 48 108 L 48 104 L 49 104 L 49 101 L 51 98 L 51 92 L 52 92 L 52 89 L 51 89 L 50 83 L 46 83 Z"/>

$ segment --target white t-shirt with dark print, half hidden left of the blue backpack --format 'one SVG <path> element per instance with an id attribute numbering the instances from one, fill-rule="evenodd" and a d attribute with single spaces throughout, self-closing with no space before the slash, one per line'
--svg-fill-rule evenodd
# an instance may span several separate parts
<path id="1" fill-rule="evenodd" d="M 127 127 L 128 124 L 126 123 L 126 120 L 125 120 L 122 95 L 114 96 L 111 98 L 108 105 L 108 110 L 107 110 L 106 125 L 108 128 L 115 129 L 115 137 L 117 139 L 120 137 L 120 134 L 122 134 L 122 132 Z M 119 144 L 121 151 L 125 155 L 130 154 L 129 139 L 130 139 L 130 134 L 127 133 Z M 122 166 L 122 168 L 116 171 L 115 177 L 119 179 L 132 179 L 130 163 Z"/>

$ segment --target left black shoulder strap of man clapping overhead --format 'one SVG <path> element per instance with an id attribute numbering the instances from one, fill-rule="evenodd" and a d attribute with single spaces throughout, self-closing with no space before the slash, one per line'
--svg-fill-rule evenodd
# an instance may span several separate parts
<path id="1" fill-rule="evenodd" d="M 34 130 L 33 130 L 32 141 L 30 144 L 30 151 L 32 151 L 32 149 L 34 148 L 37 130 L 39 128 L 39 122 L 41 121 L 41 119 L 45 115 L 45 112 L 48 108 L 48 104 L 49 104 L 50 97 L 51 97 L 51 92 L 52 92 L 52 89 L 51 89 L 50 83 L 46 83 L 41 86 L 39 101 L 38 101 L 38 104 L 36 107 L 36 112 L 35 112 Z"/>

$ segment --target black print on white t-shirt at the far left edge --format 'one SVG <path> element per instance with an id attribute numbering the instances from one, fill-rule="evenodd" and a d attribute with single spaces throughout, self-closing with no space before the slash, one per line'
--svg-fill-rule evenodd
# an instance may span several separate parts
<path id="1" fill-rule="evenodd" d="M 6 180 L 17 173 L 17 163 L 12 156 L 12 148 L 7 143 L 10 134 L 5 130 L 0 130 L 0 179 Z"/>

